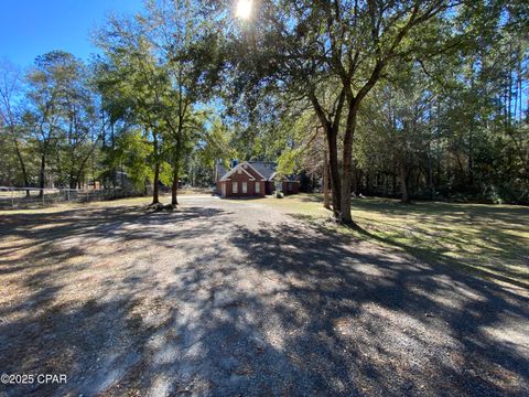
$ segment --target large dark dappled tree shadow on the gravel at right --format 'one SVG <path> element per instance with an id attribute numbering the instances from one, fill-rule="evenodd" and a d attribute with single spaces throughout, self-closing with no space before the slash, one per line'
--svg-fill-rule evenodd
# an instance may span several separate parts
<path id="1" fill-rule="evenodd" d="M 274 313 L 303 330 L 287 350 L 312 352 L 315 373 L 327 363 L 330 390 L 333 378 L 377 395 L 529 390 L 527 298 L 449 266 L 356 250 L 328 232 L 261 229 L 234 243 L 253 253 L 251 266 L 287 282 Z M 311 320 L 292 323 L 289 311 Z"/>

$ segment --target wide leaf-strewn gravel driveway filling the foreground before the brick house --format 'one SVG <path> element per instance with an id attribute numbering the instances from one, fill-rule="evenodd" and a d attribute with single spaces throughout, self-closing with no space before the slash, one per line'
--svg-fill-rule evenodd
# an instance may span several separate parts
<path id="1" fill-rule="evenodd" d="M 529 299 L 182 197 L 0 215 L 0 396 L 529 395 Z"/>

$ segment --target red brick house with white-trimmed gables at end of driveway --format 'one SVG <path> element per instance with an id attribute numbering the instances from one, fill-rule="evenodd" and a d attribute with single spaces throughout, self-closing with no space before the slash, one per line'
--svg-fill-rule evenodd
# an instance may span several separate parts
<path id="1" fill-rule="evenodd" d="M 215 183 L 222 197 L 263 197 L 277 189 L 295 194 L 300 187 L 295 179 L 279 176 L 274 163 L 262 161 L 245 161 L 234 164 L 229 171 L 217 162 Z"/>

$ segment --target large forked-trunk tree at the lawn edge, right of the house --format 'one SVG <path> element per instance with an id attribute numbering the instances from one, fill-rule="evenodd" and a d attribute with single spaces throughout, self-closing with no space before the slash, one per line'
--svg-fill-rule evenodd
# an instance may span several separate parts
<path id="1" fill-rule="evenodd" d="M 450 0 L 253 3 L 249 20 L 235 21 L 226 12 L 229 2 L 209 2 L 226 22 L 235 86 L 247 94 L 288 93 L 312 105 L 327 140 L 333 211 L 352 224 L 353 141 L 363 100 L 397 61 L 452 45 L 449 28 L 462 6 Z"/>

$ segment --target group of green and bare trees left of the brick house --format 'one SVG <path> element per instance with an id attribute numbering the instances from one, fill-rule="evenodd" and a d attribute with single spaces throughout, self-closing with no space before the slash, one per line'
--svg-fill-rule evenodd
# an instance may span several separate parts
<path id="1" fill-rule="evenodd" d="M 95 32 L 101 54 L 89 62 L 53 51 L 24 72 L 3 61 L 0 185 L 112 187 L 126 175 L 139 193 L 152 185 L 153 204 L 171 186 L 177 204 L 182 180 L 210 184 L 231 151 L 210 106 L 218 73 L 196 12 L 148 1 Z"/>

